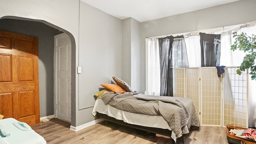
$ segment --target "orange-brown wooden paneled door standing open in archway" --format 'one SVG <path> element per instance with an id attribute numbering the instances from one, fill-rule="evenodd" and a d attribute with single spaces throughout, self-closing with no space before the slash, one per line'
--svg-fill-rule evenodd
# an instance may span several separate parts
<path id="1" fill-rule="evenodd" d="M 38 38 L 0 31 L 0 114 L 40 122 Z"/>

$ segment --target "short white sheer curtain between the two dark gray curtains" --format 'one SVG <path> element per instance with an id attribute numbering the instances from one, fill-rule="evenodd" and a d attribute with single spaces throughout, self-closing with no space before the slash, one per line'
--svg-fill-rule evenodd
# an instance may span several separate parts
<path id="1" fill-rule="evenodd" d="M 200 67 L 201 66 L 201 54 L 200 54 L 200 37 L 190 36 L 185 38 L 187 54 L 188 54 L 188 63 L 190 68 Z"/>

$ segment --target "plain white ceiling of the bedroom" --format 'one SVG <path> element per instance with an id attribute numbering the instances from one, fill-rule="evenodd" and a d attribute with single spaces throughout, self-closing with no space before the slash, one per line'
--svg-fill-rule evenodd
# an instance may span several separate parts
<path id="1" fill-rule="evenodd" d="M 191 12 L 238 0 L 81 0 L 117 18 L 139 22 Z"/>

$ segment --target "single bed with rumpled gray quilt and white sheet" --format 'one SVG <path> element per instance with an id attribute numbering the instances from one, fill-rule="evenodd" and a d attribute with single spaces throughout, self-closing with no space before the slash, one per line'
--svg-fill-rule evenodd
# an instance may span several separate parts
<path id="1" fill-rule="evenodd" d="M 118 82 L 111 85 L 118 86 Z M 198 114 L 188 98 L 150 96 L 132 90 L 120 93 L 102 86 L 106 89 L 97 96 L 92 110 L 97 118 L 169 136 L 174 142 L 178 138 L 184 143 L 184 134 L 199 130 Z"/>

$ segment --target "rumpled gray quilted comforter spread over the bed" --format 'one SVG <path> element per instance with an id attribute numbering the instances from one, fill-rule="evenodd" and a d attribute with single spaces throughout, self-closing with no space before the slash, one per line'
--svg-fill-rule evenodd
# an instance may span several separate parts
<path id="1" fill-rule="evenodd" d="M 189 133 L 190 126 L 199 127 L 200 122 L 189 98 L 150 96 L 144 94 L 108 93 L 102 96 L 105 104 L 137 114 L 162 116 L 179 138 Z"/>

